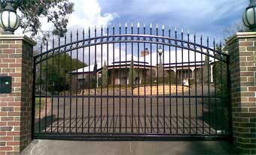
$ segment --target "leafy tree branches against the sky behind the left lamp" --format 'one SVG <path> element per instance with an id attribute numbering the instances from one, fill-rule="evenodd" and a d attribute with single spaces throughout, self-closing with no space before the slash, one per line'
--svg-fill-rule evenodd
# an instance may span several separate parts
<path id="1" fill-rule="evenodd" d="M 0 11 L 5 4 L 6 0 L 0 0 Z M 74 3 L 69 0 L 14 0 L 14 9 L 21 12 L 20 27 L 23 28 L 23 33 L 30 32 L 35 36 L 42 32 L 40 19 L 45 17 L 47 22 L 54 25 L 52 33 L 62 37 L 67 31 L 69 14 L 74 11 Z"/>

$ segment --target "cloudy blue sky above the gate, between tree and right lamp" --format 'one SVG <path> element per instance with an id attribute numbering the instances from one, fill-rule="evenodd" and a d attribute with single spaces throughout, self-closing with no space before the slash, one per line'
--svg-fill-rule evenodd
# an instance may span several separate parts
<path id="1" fill-rule="evenodd" d="M 69 30 L 95 25 L 165 25 L 221 40 L 224 30 L 242 22 L 246 0 L 72 0 Z"/>

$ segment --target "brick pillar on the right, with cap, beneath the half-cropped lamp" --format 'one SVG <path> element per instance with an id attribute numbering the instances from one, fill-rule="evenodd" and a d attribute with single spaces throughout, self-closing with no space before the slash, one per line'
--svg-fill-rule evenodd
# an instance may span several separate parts
<path id="1" fill-rule="evenodd" d="M 256 154 L 256 32 L 237 33 L 227 45 L 233 142 L 242 154 Z"/>

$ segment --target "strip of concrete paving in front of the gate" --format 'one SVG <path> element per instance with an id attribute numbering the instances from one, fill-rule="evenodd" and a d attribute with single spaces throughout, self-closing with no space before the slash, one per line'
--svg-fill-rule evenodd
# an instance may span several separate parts
<path id="1" fill-rule="evenodd" d="M 34 140 L 21 155 L 236 154 L 228 142 L 73 142 Z"/>

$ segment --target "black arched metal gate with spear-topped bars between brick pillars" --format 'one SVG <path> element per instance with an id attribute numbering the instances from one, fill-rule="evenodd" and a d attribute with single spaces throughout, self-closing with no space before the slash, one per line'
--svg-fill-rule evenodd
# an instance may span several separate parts
<path id="1" fill-rule="evenodd" d="M 209 37 L 139 24 L 53 37 L 34 57 L 33 136 L 227 139 L 221 49 Z"/>

